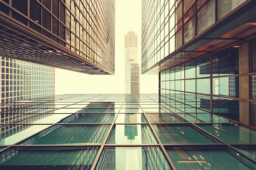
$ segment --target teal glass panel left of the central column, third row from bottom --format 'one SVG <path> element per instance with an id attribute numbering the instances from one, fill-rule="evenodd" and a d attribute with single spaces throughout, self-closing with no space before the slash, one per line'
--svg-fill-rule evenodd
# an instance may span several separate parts
<path id="1" fill-rule="evenodd" d="M 76 113 L 61 121 L 61 123 L 112 123 L 115 114 Z"/>

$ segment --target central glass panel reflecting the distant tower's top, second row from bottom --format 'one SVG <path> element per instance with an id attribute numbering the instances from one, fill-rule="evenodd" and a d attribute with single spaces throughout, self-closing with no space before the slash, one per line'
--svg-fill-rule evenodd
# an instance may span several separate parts
<path id="1" fill-rule="evenodd" d="M 115 125 L 107 144 L 157 144 L 147 124 Z"/>

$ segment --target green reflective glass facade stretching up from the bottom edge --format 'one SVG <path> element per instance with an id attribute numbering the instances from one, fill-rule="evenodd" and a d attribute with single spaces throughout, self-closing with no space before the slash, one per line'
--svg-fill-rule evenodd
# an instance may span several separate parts
<path id="1" fill-rule="evenodd" d="M 17 120 L 0 124 L 0 130 L 29 125 L 16 139 L 13 135 L 5 137 L 0 145 L 0 168 L 256 168 L 255 128 L 211 113 L 174 113 L 166 100 L 152 94 L 58 95 L 24 100 L 23 106 L 44 106 L 54 114 L 29 123 Z M 10 103 L 9 110 L 1 115 L 11 116 L 22 109 L 19 105 Z"/>

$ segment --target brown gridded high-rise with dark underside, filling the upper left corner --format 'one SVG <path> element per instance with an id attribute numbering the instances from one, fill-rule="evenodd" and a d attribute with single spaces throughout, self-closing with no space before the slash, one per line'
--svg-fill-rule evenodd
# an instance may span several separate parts
<path id="1" fill-rule="evenodd" d="M 114 74 L 115 0 L 0 0 L 0 55 Z"/>

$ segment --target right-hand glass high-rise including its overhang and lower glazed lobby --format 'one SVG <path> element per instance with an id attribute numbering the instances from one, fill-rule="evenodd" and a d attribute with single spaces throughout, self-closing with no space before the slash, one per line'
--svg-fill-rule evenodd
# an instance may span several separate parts
<path id="1" fill-rule="evenodd" d="M 166 106 L 256 127 L 255 11 L 255 0 L 142 0 L 141 69 L 159 74 Z"/>

